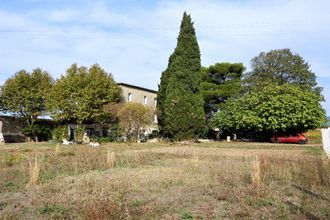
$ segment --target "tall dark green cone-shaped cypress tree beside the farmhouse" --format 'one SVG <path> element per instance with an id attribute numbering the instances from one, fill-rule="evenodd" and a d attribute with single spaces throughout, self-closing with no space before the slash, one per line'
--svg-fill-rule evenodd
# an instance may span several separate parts
<path id="1" fill-rule="evenodd" d="M 178 43 L 162 73 L 158 90 L 160 132 L 174 139 L 190 139 L 204 128 L 204 100 L 200 90 L 201 59 L 190 15 L 183 14 Z"/>

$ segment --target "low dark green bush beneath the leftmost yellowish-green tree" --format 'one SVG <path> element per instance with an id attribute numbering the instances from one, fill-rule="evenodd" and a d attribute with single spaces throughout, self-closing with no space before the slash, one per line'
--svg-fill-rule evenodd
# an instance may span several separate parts
<path id="1" fill-rule="evenodd" d="M 51 138 L 50 129 L 45 125 L 28 125 L 22 129 L 22 133 L 34 141 L 48 141 Z"/>

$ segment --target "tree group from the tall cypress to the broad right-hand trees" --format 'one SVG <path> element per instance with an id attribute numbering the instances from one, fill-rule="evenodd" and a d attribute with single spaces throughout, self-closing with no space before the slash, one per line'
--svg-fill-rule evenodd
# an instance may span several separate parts
<path id="1" fill-rule="evenodd" d="M 269 139 L 324 123 L 322 88 L 300 55 L 262 52 L 251 60 L 251 71 L 245 69 L 241 63 L 202 67 L 193 23 L 184 13 L 159 85 L 160 133 L 177 140 L 219 134 Z"/>

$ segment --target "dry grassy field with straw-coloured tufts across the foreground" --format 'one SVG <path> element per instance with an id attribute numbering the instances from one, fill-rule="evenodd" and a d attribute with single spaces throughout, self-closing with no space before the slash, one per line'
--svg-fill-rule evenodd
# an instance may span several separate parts
<path id="1" fill-rule="evenodd" d="M 0 158 L 0 219 L 330 218 L 330 161 L 317 139 L 6 144 Z"/>

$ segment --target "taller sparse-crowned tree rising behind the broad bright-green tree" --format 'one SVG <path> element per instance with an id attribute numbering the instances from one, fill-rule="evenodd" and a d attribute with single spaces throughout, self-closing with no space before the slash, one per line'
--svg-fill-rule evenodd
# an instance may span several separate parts
<path id="1" fill-rule="evenodd" d="M 316 76 L 310 65 L 299 54 L 293 54 L 290 49 L 261 52 L 251 60 L 251 65 L 252 71 L 245 75 L 245 82 L 249 88 L 259 84 L 262 86 L 264 82 L 278 85 L 289 83 L 321 94 L 322 89 L 317 86 Z"/>

